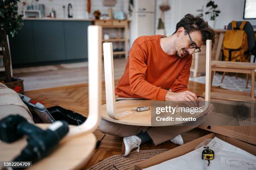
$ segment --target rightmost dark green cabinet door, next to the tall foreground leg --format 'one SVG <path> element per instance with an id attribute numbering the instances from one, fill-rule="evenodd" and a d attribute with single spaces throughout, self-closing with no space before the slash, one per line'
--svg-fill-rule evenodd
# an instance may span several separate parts
<path id="1" fill-rule="evenodd" d="M 87 27 L 89 22 L 64 22 L 64 35 L 67 59 L 87 58 Z"/>

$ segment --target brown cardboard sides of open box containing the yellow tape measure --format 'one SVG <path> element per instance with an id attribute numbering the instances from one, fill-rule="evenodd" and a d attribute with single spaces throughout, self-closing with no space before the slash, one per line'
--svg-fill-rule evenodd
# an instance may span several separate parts
<path id="1" fill-rule="evenodd" d="M 142 170 L 143 168 L 148 168 L 153 165 L 157 165 L 159 163 L 162 163 L 166 160 L 170 160 L 173 158 L 177 158 L 181 155 L 184 155 L 186 153 L 189 153 L 193 150 L 195 150 L 195 147 L 202 143 L 206 138 L 213 139 L 214 137 L 217 137 L 227 143 L 230 143 L 231 145 L 234 145 L 238 148 L 241 148 L 242 150 L 247 151 L 248 153 L 251 153 L 253 155 L 256 155 L 256 146 L 250 145 L 248 143 L 244 143 L 242 141 L 224 136 L 224 135 L 219 135 L 216 133 L 210 133 L 208 135 L 205 135 L 201 138 L 198 138 L 196 140 L 193 140 L 189 143 L 185 143 L 184 145 L 180 145 L 177 148 L 171 149 L 165 153 L 161 153 L 159 155 L 156 155 L 152 158 L 149 158 L 147 160 L 144 160 L 137 165 L 135 165 L 135 170 Z"/>

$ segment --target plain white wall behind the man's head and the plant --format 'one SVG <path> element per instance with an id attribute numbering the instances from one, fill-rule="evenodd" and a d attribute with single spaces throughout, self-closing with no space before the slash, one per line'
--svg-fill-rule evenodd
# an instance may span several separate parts
<path id="1" fill-rule="evenodd" d="M 224 25 L 228 25 L 232 20 L 243 20 L 243 7 L 244 0 L 214 0 L 218 5 L 218 9 L 221 11 L 219 17 L 216 20 L 216 29 L 223 29 Z M 159 5 L 162 0 L 156 0 L 156 28 L 159 18 Z M 201 9 L 202 5 L 205 6 L 209 0 L 169 0 L 171 10 L 165 12 L 165 28 L 166 35 L 171 35 L 175 31 L 176 24 L 187 13 L 199 14 L 197 9 Z M 207 16 L 204 16 L 205 20 L 209 20 Z M 256 20 L 248 20 L 252 25 L 256 25 Z"/>

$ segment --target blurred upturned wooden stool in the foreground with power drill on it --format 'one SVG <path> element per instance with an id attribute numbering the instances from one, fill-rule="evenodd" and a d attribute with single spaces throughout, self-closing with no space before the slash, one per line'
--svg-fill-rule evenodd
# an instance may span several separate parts
<path id="1" fill-rule="evenodd" d="M 49 156 L 35 163 L 30 168 L 47 170 L 70 170 L 81 168 L 90 160 L 95 150 L 96 137 L 92 133 L 100 121 L 101 105 L 101 68 L 102 68 L 102 28 L 90 25 L 88 27 L 89 56 L 89 115 L 79 126 L 69 125 L 69 133 L 59 143 L 56 150 Z M 61 99 L 60 99 L 61 100 Z M 46 129 L 49 124 L 36 124 Z M 26 139 L 7 144 L 0 141 L 0 160 L 11 161 L 26 146 Z M 1 167 L 1 165 L 0 165 Z"/>

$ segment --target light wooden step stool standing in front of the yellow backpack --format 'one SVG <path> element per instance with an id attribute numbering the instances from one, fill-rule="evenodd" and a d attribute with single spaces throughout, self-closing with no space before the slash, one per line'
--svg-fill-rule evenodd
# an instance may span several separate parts
<path id="1" fill-rule="evenodd" d="M 211 98 L 221 99 L 221 100 L 255 102 L 255 97 L 254 97 L 254 83 L 255 83 L 254 70 L 255 69 L 256 69 L 256 63 L 229 62 L 229 61 L 216 61 L 216 60 L 212 61 L 211 62 L 211 70 L 212 70 L 211 82 L 213 80 L 214 71 L 248 73 L 248 74 L 251 74 L 251 93 L 211 88 Z"/>

